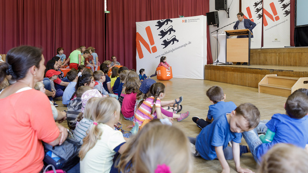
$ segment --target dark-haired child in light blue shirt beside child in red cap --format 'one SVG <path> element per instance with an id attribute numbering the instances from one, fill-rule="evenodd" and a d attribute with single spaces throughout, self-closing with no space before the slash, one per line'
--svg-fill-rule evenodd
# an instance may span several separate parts
<path id="1" fill-rule="evenodd" d="M 75 86 L 78 81 L 78 71 L 72 68 L 69 72 L 67 72 L 66 78 L 70 81 L 70 83 L 63 92 L 62 103 L 64 106 L 68 105 L 73 93 L 75 92 Z"/>

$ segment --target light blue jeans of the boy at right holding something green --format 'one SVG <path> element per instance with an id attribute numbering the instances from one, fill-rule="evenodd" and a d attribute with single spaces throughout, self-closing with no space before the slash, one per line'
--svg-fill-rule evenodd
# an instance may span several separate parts
<path id="1" fill-rule="evenodd" d="M 264 124 L 264 126 L 265 126 L 265 124 Z M 255 128 L 255 129 L 250 130 L 250 131 L 244 131 L 244 132 L 242 132 L 242 134 L 243 134 L 243 137 L 244 137 L 249 149 L 252 152 L 252 155 L 253 155 L 255 161 L 259 164 L 260 162 L 257 158 L 257 151 L 258 151 L 259 146 L 262 144 L 262 141 L 260 140 L 260 138 L 258 136 L 257 129 Z"/>

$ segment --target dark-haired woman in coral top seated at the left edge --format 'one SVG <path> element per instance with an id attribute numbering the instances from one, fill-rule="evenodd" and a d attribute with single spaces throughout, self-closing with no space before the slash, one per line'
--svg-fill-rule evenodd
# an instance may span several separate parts
<path id="1" fill-rule="evenodd" d="M 11 49 L 0 64 L 0 172 L 40 172 L 42 141 L 55 146 L 67 138 L 67 129 L 54 122 L 46 95 L 33 89 L 44 78 L 42 50 L 31 46 Z"/>

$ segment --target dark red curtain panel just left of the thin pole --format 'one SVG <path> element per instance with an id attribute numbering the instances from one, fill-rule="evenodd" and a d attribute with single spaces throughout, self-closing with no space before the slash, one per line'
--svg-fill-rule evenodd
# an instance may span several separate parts
<path id="1" fill-rule="evenodd" d="M 104 1 L 56 0 L 55 49 L 64 48 L 69 54 L 80 46 L 92 46 L 104 60 L 105 18 Z M 56 53 L 56 52 L 55 52 Z"/>

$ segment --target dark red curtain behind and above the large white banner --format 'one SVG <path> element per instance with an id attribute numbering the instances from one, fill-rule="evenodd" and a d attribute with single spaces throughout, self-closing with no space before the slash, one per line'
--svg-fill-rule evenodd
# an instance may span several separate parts
<path id="1" fill-rule="evenodd" d="M 115 55 L 121 64 L 136 69 L 136 22 L 206 15 L 209 0 L 107 0 L 107 7 L 106 59 Z M 207 63 L 212 62 L 208 39 Z"/>

